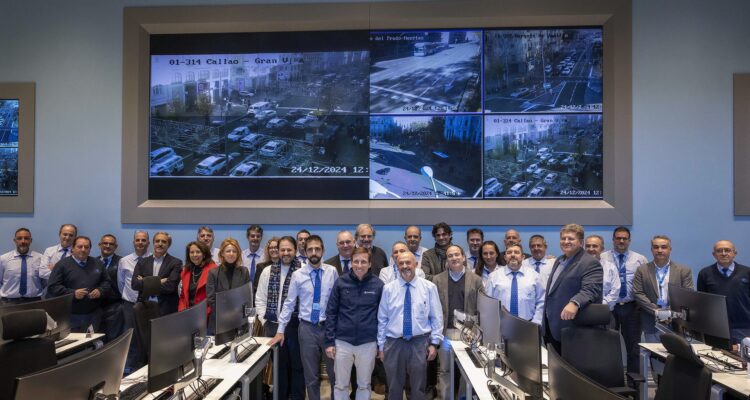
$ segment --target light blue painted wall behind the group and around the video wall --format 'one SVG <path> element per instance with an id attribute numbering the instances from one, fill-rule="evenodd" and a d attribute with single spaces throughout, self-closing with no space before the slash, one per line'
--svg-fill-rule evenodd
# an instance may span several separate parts
<path id="1" fill-rule="evenodd" d="M 120 224 L 122 9 L 157 4 L 208 3 L 0 0 L 0 81 L 37 84 L 36 211 L 0 217 L 0 250 L 12 248 L 19 226 L 32 230 L 42 250 L 56 242 L 64 222 L 92 237 L 116 234 L 119 253 L 131 251 L 136 228 L 171 232 L 172 252 L 180 256 L 195 237 L 194 225 Z M 750 72 L 748 15 L 744 0 L 634 1 L 633 248 L 649 257 L 648 238 L 666 233 L 673 259 L 696 271 L 712 261 L 711 246 L 720 238 L 733 240 L 738 260 L 750 263 L 744 254 L 750 220 L 734 217 L 732 208 L 732 74 Z M 245 227 L 214 228 L 217 237 L 244 243 Z M 350 227 L 308 228 L 324 237 L 332 255 L 336 233 Z M 378 226 L 376 243 L 389 247 L 403 228 Z M 467 228 L 455 227 L 458 242 Z M 558 228 L 519 230 L 525 239 L 545 234 L 559 254 Z M 486 227 L 487 236 L 499 241 L 505 229 Z M 609 238 L 611 229 L 587 227 L 587 234 Z M 296 230 L 266 226 L 267 235 Z"/>

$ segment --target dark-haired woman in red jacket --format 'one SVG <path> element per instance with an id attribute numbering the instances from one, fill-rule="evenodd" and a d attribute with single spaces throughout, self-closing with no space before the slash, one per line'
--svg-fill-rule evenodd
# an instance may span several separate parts
<path id="1" fill-rule="evenodd" d="M 206 299 L 208 273 L 216 268 L 211 260 L 211 250 L 202 242 L 190 242 L 185 247 L 185 266 L 180 273 L 180 301 L 178 310 L 182 311 Z M 206 317 L 211 315 L 208 307 Z"/>

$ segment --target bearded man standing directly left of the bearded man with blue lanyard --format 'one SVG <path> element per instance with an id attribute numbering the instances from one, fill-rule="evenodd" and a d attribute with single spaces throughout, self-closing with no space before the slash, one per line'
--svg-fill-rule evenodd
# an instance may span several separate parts
<path id="1" fill-rule="evenodd" d="M 281 308 L 289 294 L 292 273 L 300 268 L 297 255 L 297 241 L 291 236 L 279 239 L 279 263 L 263 269 L 255 292 L 255 307 L 263 324 L 266 337 L 273 337 L 279 328 Z M 289 316 L 284 341 L 279 346 L 278 382 L 274 390 L 279 399 L 305 398 L 305 380 L 299 352 L 299 318 L 293 309 Z"/>

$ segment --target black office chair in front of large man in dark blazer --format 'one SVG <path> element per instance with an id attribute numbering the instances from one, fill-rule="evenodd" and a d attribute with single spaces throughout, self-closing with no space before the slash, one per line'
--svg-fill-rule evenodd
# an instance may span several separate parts
<path id="1" fill-rule="evenodd" d="M 609 328 L 606 304 L 589 304 L 578 312 L 574 325 L 562 330 L 562 358 L 583 375 L 621 396 L 636 398 L 638 390 L 627 386 L 623 375 L 620 332 Z M 636 386 L 644 379 L 628 373 Z"/>

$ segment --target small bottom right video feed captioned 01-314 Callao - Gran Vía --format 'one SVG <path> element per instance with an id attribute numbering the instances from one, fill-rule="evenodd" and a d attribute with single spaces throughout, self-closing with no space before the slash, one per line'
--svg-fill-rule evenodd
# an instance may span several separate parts
<path id="1" fill-rule="evenodd" d="M 487 115 L 484 198 L 602 198 L 600 114 Z"/>

